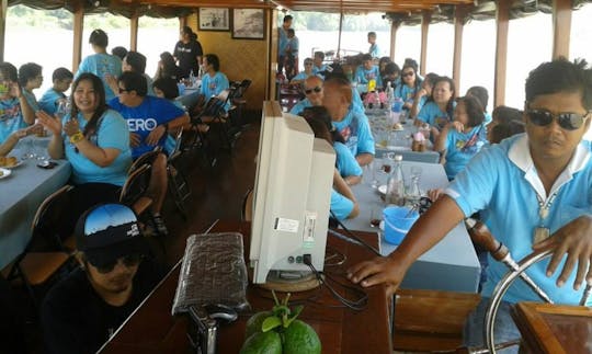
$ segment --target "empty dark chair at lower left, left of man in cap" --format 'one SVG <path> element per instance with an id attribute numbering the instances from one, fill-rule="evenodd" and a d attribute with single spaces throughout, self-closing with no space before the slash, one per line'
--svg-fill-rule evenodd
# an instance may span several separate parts
<path id="1" fill-rule="evenodd" d="M 31 225 L 31 240 L 8 267 L 8 281 L 21 279 L 36 307 L 41 304 L 41 297 L 37 296 L 35 288 L 49 285 L 72 260 L 76 247 L 73 237 L 68 235 L 62 238 L 62 235 L 49 231 L 52 226 L 58 228 L 59 216 L 67 213 L 68 205 L 65 202 L 71 189 L 70 185 L 61 187 L 39 205 Z"/>

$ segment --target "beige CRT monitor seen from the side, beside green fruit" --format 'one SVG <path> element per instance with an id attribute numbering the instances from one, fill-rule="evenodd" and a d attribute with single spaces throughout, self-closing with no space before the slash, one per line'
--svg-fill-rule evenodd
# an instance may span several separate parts
<path id="1" fill-rule="evenodd" d="M 259 138 L 250 262 L 253 283 L 270 271 L 322 271 L 335 153 L 308 123 L 264 102 Z"/>

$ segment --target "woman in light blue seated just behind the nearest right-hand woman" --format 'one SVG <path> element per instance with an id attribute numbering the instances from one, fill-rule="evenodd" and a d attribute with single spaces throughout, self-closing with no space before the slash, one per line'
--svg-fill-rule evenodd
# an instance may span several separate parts
<path id="1" fill-rule="evenodd" d="M 421 109 L 415 125 L 428 123 L 431 129 L 431 139 L 435 141 L 442 130 L 453 121 L 455 87 L 448 77 L 440 77 L 434 82 L 432 95 Z"/>

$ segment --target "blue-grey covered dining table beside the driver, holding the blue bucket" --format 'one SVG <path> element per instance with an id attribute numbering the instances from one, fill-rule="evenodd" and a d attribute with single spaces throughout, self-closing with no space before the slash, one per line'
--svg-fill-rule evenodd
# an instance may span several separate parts
<path id="1" fill-rule="evenodd" d="M 362 182 L 352 186 L 360 204 L 360 215 L 343 222 L 350 230 L 378 233 L 382 255 L 390 254 L 397 244 L 385 239 L 384 222 L 374 226 L 371 221 L 382 219 L 383 210 L 387 207 L 382 195 L 386 191 L 388 174 L 383 167 L 391 163 L 392 161 L 387 159 L 376 159 L 372 165 L 365 168 Z M 428 190 L 445 189 L 448 185 L 442 164 L 403 160 L 402 172 L 408 191 L 412 168 L 415 174 L 419 173 L 418 182 L 422 195 L 425 195 Z M 459 222 L 411 265 L 401 288 L 477 293 L 479 275 L 480 264 L 475 248 L 464 222 Z"/>

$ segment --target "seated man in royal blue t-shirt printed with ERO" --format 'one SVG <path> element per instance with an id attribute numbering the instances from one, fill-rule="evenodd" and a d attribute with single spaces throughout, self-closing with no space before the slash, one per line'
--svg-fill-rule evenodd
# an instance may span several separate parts
<path id="1" fill-rule="evenodd" d="M 164 148 L 169 130 L 175 130 L 189 123 L 189 116 L 171 102 L 147 95 L 146 79 L 139 72 L 125 71 L 117 80 L 119 96 L 109 105 L 127 121 L 132 158 L 152 151 L 157 146 Z M 159 153 L 152 161 L 152 172 L 148 191 L 153 203 L 150 206 L 152 222 L 161 236 L 169 231 L 160 215 L 167 195 L 167 157 Z"/>

